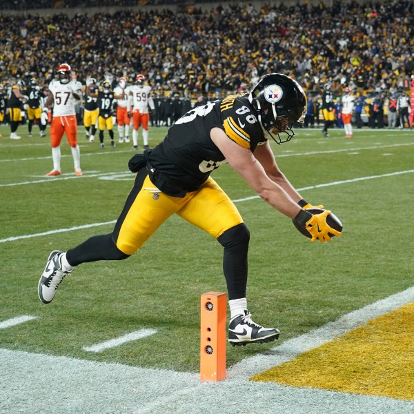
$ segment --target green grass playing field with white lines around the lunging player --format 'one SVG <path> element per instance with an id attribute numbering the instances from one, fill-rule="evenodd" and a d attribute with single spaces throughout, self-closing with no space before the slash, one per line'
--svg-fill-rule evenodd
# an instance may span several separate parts
<path id="1" fill-rule="evenodd" d="M 172 217 L 123 262 L 83 264 L 43 305 L 37 282 L 51 250 L 66 250 L 90 235 L 110 233 L 132 186 L 131 144 L 99 149 L 79 128 L 83 177 L 73 174 L 66 141 L 61 177 L 52 169 L 48 133 L 8 139 L 0 127 L 0 322 L 37 317 L 2 329 L 0 347 L 68 355 L 132 366 L 199 370 L 199 297 L 225 291 L 221 246 Z M 150 145 L 166 128 L 150 128 Z M 333 321 L 413 284 L 411 205 L 414 132 L 297 130 L 273 144 L 280 168 L 312 204 L 324 204 L 344 224 L 332 243 L 311 243 L 290 219 L 255 196 L 228 166 L 213 178 L 236 200 L 250 229 L 248 303 L 253 320 L 282 331 L 279 343 Z M 117 137 L 117 133 L 115 132 Z M 141 144 L 141 134 L 140 134 Z M 94 226 L 95 225 L 95 226 Z M 42 235 L 42 233 L 47 233 Z M 83 351 L 108 339 L 150 328 L 155 335 L 101 353 Z M 274 343 L 228 347 L 228 366 Z"/>

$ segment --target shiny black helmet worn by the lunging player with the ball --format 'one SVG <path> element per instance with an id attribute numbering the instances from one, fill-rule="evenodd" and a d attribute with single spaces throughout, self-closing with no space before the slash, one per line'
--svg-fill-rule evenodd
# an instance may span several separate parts
<path id="1" fill-rule="evenodd" d="M 305 119 L 305 92 L 297 81 L 282 73 L 264 75 L 250 92 L 249 101 L 255 108 L 264 137 L 273 139 L 276 144 L 295 137 L 293 124 L 302 123 Z M 274 132 L 275 129 L 278 132 Z M 281 132 L 286 133 L 287 137 L 283 139 Z"/>

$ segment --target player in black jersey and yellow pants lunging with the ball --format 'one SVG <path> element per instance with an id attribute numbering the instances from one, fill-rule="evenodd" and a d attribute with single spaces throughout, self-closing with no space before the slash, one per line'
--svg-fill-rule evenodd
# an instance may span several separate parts
<path id="1" fill-rule="evenodd" d="M 304 90 L 279 73 L 262 77 L 250 93 L 188 111 L 169 128 L 164 141 L 130 159 L 135 184 L 112 233 L 92 236 L 66 253 L 50 253 L 38 285 L 41 302 L 52 301 L 75 266 L 130 257 L 175 213 L 217 239 L 224 249 L 230 344 L 277 339 L 277 328 L 253 322 L 248 311 L 250 233 L 235 204 L 210 173 L 221 164 L 230 164 L 264 201 L 306 228 L 312 241 L 331 241 L 331 235 L 341 235 L 326 223 L 329 210 L 314 215 L 307 210 L 311 204 L 279 170 L 270 148 L 270 139 L 277 144 L 292 139 L 293 124 L 302 123 L 305 114 Z"/>

